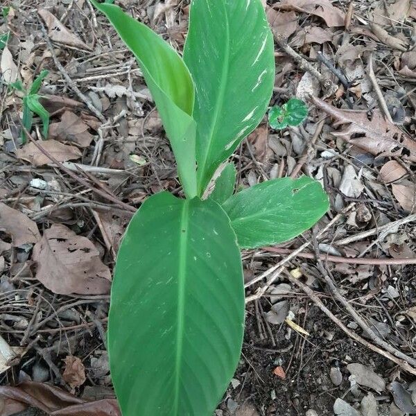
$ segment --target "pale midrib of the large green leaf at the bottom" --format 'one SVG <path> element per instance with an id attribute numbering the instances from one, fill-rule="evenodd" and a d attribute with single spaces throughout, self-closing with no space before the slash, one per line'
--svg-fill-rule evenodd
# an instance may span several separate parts
<path id="1" fill-rule="evenodd" d="M 189 227 L 189 200 L 184 200 L 179 227 L 179 262 L 177 270 L 177 331 L 175 354 L 175 397 L 173 402 L 173 415 L 179 416 L 180 374 L 182 368 L 182 351 L 184 341 L 184 314 L 185 314 L 185 286 L 187 279 L 187 240 Z"/>

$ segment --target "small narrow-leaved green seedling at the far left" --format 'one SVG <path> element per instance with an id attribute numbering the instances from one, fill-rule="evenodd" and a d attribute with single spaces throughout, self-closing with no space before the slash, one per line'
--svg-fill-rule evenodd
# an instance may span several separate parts
<path id="1" fill-rule="evenodd" d="M 26 131 L 30 132 L 33 123 L 33 113 L 40 116 L 42 120 L 42 135 L 44 139 L 48 137 L 48 130 L 49 130 L 49 112 L 47 112 L 44 106 L 40 103 L 39 99 L 41 96 L 37 94 L 39 92 L 40 87 L 42 86 L 42 81 L 48 75 L 49 71 L 44 69 L 41 73 L 35 78 L 31 87 L 26 89 L 24 85 L 21 83 L 20 80 L 16 81 L 15 83 L 11 83 L 10 87 L 17 89 L 18 91 L 24 94 L 23 96 L 23 116 L 22 116 L 22 124 L 24 129 L 21 131 L 21 140 L 23 143 L 26 143 Z"/>

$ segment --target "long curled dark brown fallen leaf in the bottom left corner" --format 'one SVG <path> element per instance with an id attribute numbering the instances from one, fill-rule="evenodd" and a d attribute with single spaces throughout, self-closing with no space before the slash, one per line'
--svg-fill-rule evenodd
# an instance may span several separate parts
<path id="1" fill-rule="evenodd" d="M 28 406 L 50 416 L 121 416 L 116 399 L 88 401 L 52 385 L 33 381 L 24 381 L 15 387 L 1 385 L 0 399 L 5 401 L 1 416 L 12 415 Z"/>

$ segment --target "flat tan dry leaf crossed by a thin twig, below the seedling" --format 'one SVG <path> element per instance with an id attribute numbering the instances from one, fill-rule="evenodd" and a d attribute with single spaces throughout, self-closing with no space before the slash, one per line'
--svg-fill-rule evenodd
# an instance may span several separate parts
<path id="1" fill-rule="evenodd" d="M 49 155 L 55 157 L 58 162 L 67 162 L 68 160 L 79 159 L 83 154 L 74 146 L 62 144 L 56 140 L 37 141 L 38 146 L 41 146 Z M 21 149 L 16 151 L 19 159 L 24 159 L 33 164 L 33 166 L 42 166 L 45 164 L 53 164 L 42 151 L 33 144 L 33 142 L 25 144 Z"/>

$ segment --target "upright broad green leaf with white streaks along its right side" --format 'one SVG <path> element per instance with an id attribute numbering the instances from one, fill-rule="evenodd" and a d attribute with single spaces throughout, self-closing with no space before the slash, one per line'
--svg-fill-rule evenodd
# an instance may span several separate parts
<path id="1" fill-rule="evenodd" d="M 260 0 L 193 0 L 184 61 L 195 83 L 198 195 L 263 118 L 275 80 Z"/>

